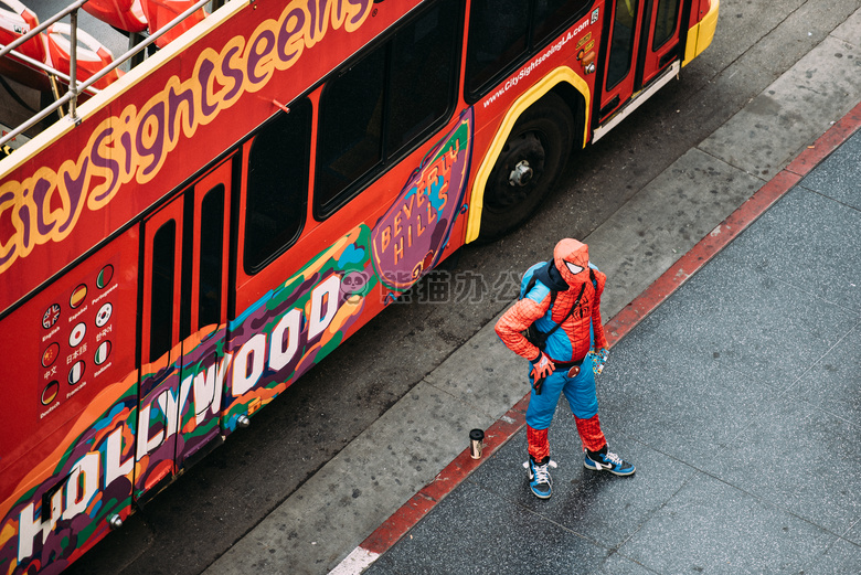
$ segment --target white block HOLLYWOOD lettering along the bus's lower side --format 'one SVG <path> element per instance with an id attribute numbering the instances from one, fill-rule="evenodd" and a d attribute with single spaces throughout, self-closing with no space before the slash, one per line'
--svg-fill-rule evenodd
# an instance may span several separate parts
<path id="1" fill-rule="evenodd" d="M 307 305 L 297 305 L 276 318 L 269 332 L 255 333 L 237 350 L 224 353 L 212 365 L 185 376 L 178 390 L 161 391 L 138 411 L 137 444 L 134 430 L 125 420 L 110 424 L 116 416 L 108 414 L 107 423 L 103 419 L 96 424 L 95 428 L 115 428 L 94 441 L 95 445 L 74 464 L 66 464 L 52 479 L 44 481 L 35 490 L 35 497 L 19 508 L 18 562 L 25 561 L 40 546 L 59 545 L 59 539 L 50 541 L 62 535 L 55 532 L 57 522 L 72 521 L 99 498 L 105 499 L 102 493 L 114 481 L 130 480 L 136 462 L 146 464 L 148 456 L 179 432 L 180 414 L 189 401 L 193 402 L 193 417 L 200 423 L 209 416 L 208 412 L 215 416 L 221 413 L 225 387 L 230 395 L 241 396 L 254 388 L 265 372 L 281 372 L 294 363 L 305 347 L 319 339 L 336 318 L 342 299 L 340 290 L 341 276 L 329 274 L 311 288 Z M 116 407 L 111 413 L 115 411 Z M 153 420 L 164 422 L 164 425 L 153 426 Z M 56 486 L 53 492 L 51 486 Z M 44 497 L 46 492 L 47 498 Z M 50 501 L 47 510 L 41 508 L 43 500 Z M 4 551 L 0 549 L 0 558 Z"/>

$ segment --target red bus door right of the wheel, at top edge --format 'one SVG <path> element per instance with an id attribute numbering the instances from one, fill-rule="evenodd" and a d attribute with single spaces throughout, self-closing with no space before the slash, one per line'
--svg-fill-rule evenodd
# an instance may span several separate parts
<path id="1" fill-rule="evenodd" d="M 610 0 L 607 10 L 600 123 L 682 56 L 682 0 Z"/>

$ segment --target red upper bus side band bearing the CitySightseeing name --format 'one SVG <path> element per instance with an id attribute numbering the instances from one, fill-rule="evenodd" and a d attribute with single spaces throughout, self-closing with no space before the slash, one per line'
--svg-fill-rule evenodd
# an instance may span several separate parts
<path id="1" fill-rule="evenodd" d="M 106 97 L 87 102 L 79 124 L 54 128 L 53 141 L 47 134 L 34 139 L 42 149 L 0 173 L 0 309 L 181 185 L 277 103 L 295 99 L 418 3 L 246 3 L 224 22 L 213 19 L 196 42 L 160 51 L 145 63 L 146 75 L 132 70 L 134 85 L 120 79 L 123 92 L 98 109 L 91 111 Z M 297 20 L 315 7 L 326 18 Z"/>

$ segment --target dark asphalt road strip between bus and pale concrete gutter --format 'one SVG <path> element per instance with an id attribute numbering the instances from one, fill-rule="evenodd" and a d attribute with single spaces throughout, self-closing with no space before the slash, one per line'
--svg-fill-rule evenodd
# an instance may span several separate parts
<path id="1" fill-rule="evenodd" d="M 391 306 L 67 573 L 202 572 L 495 318 L 514 296 L 507 278 L 548 257 L 560 237 L 586 237 L 859 7 L 723 0 L 711 47 L 595 147 L 575 151 L 523 228 L 466 246 L 416 288 L 434 283 L 455 296 L 459 281 L 482 278 L 481 297 Z"/>

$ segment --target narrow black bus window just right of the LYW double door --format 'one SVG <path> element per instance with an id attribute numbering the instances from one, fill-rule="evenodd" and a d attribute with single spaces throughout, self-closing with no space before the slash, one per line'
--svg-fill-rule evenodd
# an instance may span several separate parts
<path id="1" fill-rule="evenodd" d="M 246 274 L 259 271 L 298 237 L 308 202 L 311 104 L 301 99 L 254 138 L 245 207 Z"/>

